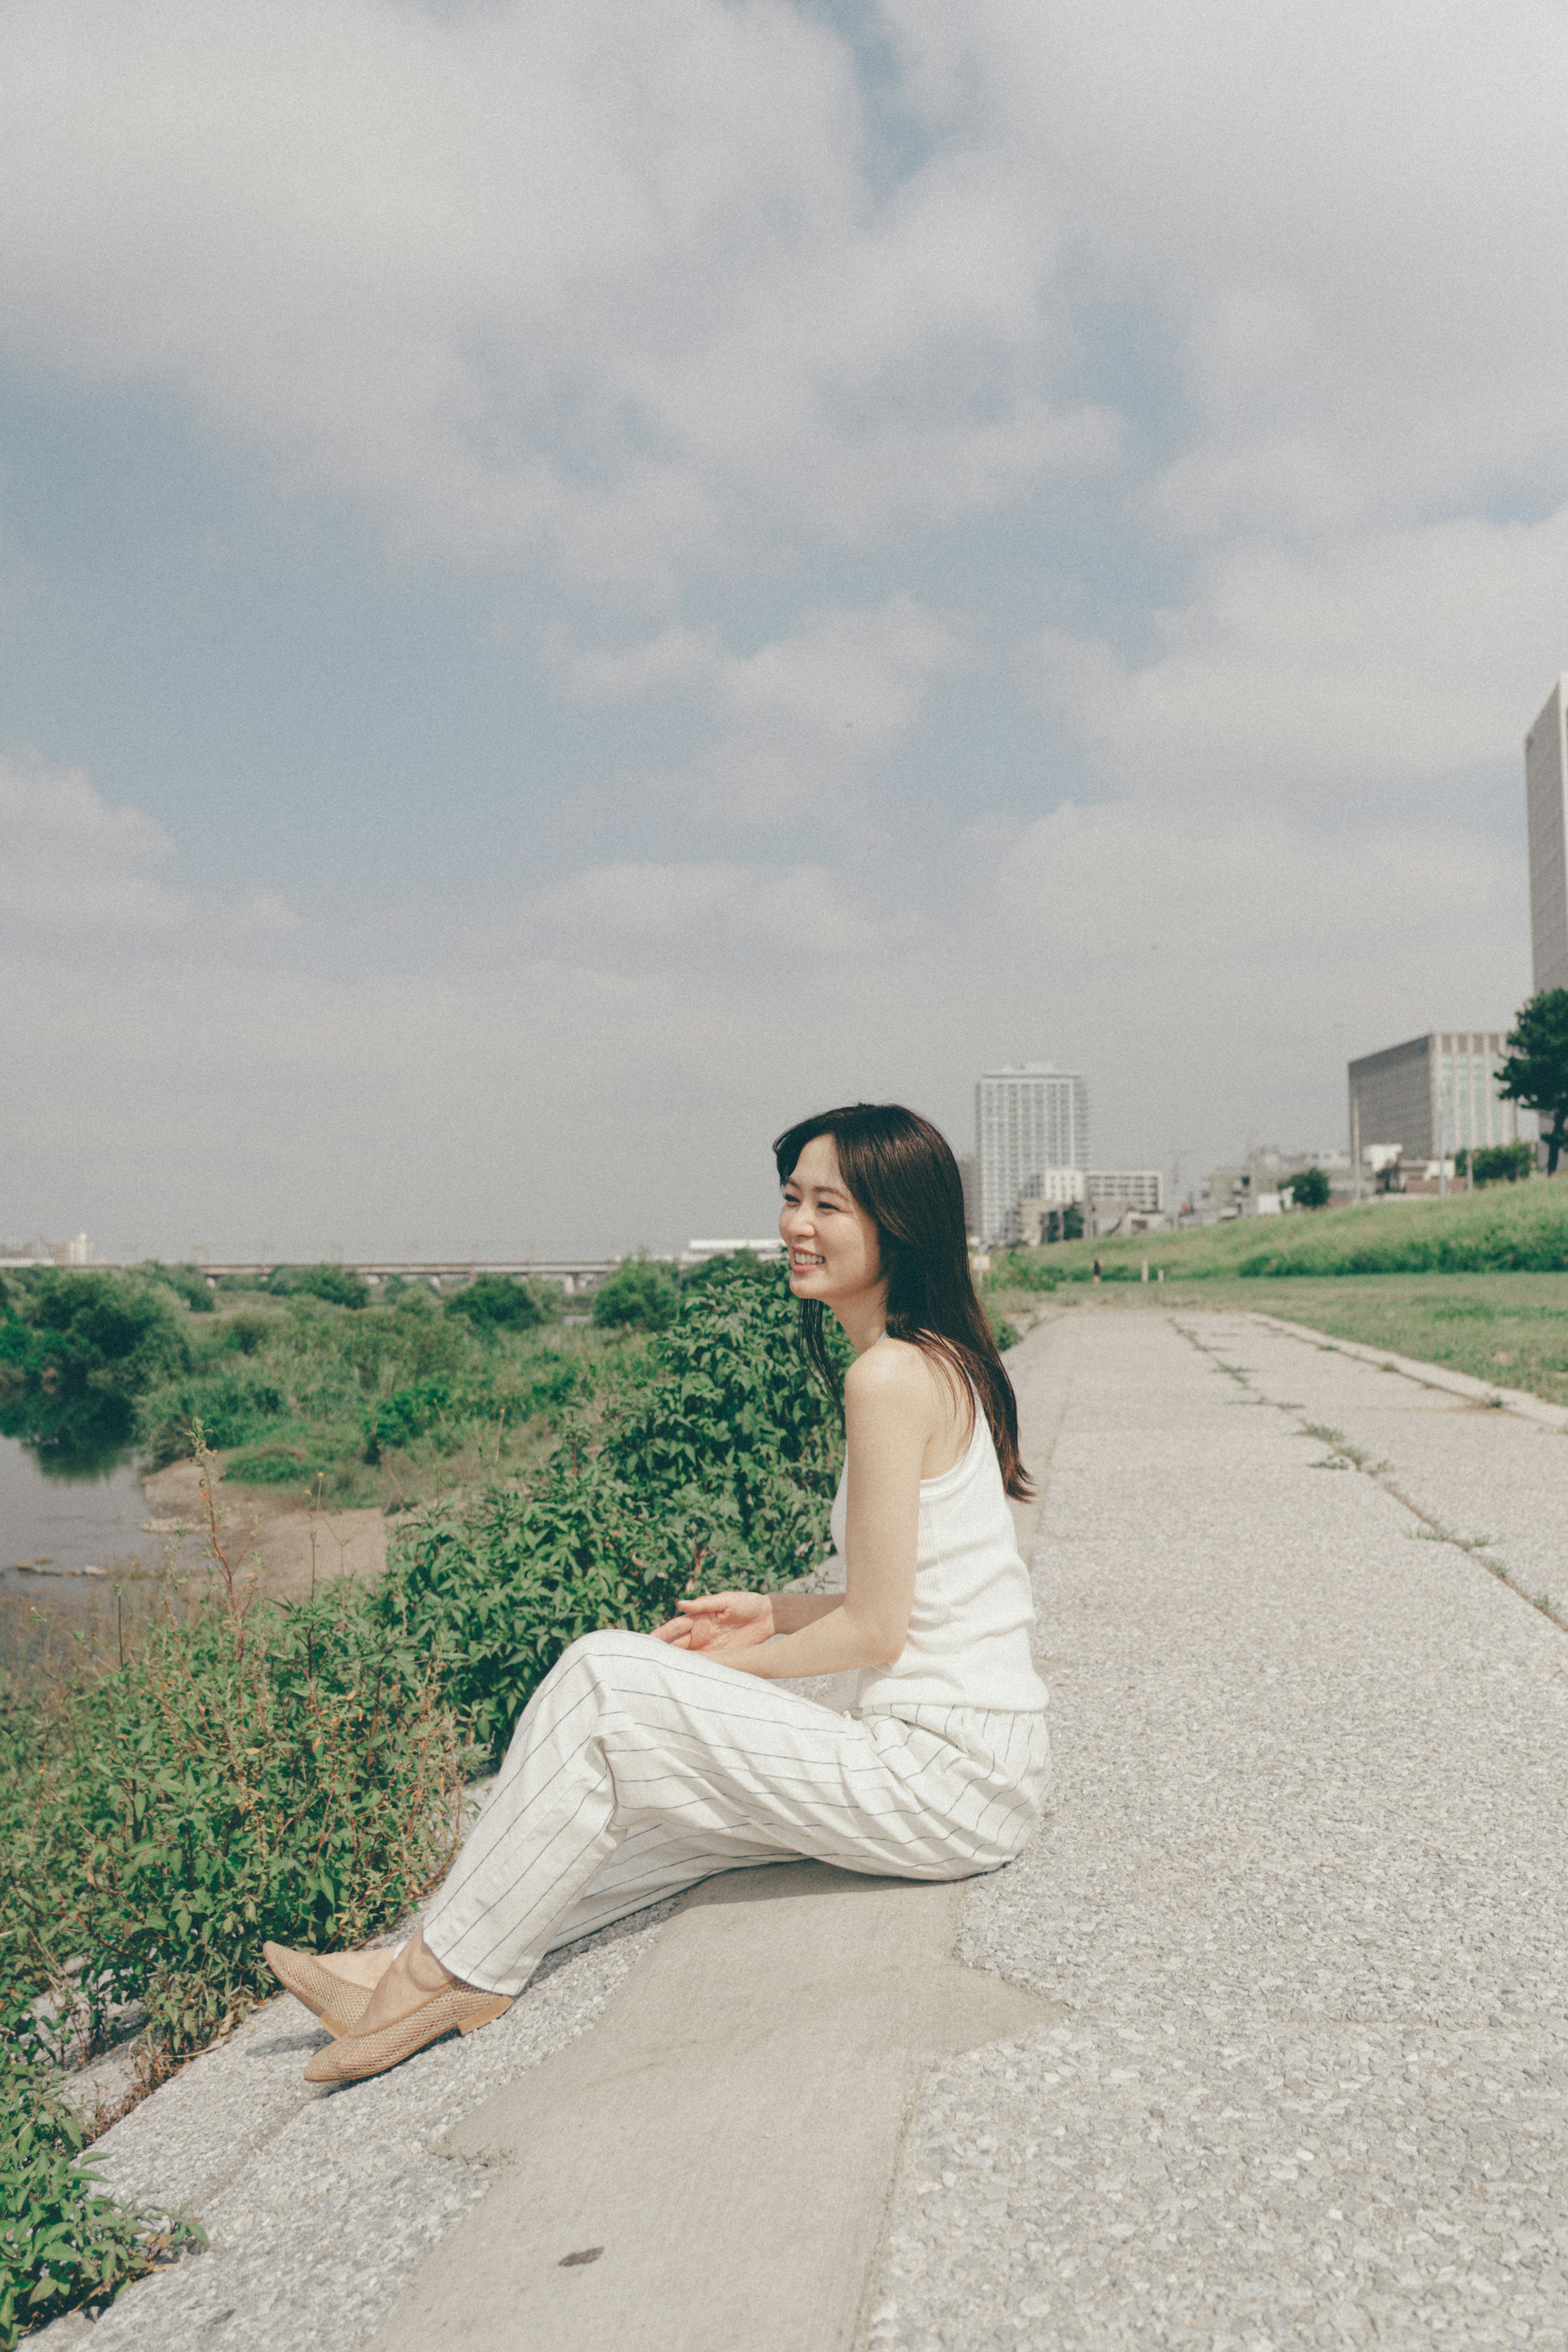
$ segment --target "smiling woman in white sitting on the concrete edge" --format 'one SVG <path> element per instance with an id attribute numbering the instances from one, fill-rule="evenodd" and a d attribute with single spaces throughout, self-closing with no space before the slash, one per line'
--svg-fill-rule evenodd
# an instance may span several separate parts
<path id="1" fill-rule="evenodd" d="M 830 1522 L 844 1590 L 717 1592 L 656 1635 L 574 1642 L 400 1952 L 266 1947 L 336 2037 L 308 2082 L 484 2025 L 545 1952 L 719 1870 L 811 1856 L 964 1879 L 1034 1828 L 1046 1691 L 1006 1508 L 1030 1484 L 957 1162 L 896 1103 L 802 1120 L 773 1150 L 806 1352 L 835 1385 L 825 1310 L 856 1350 Z M 849 1715 L 780 1689 L 856 1670 Z"/>

